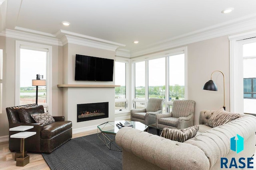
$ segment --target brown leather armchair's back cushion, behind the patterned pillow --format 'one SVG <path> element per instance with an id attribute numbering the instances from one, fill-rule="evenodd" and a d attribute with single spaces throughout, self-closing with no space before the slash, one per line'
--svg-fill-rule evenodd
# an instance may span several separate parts
<path id="1" fill-rule="evenodd" d="M 31 106 L 31 107 L 21 107 L 18 109 L 20 121 L 22 123 L 36 123 L 31 117 L 32 114 L 44 113 L 44 106 Z"/>

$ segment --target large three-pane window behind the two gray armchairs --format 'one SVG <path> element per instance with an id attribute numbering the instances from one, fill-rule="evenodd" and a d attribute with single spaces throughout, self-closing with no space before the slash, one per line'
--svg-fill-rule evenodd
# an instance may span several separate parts
<path id="1" fill-rule="evenodd" d="M 135 109 L 145 108 L 149 98 L 164 98 L 166 113 L 174 100 L 186 99 L 186 47 L 133 63 Z"/>

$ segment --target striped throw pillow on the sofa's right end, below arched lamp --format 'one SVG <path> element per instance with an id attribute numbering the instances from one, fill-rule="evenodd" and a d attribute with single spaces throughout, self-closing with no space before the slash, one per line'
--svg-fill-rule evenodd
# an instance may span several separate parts
<path id="1" fill-rule="evenodd" d="M 220 125 L 223 125 L 225 123 L 228 123 L 234 119 L 237 119 L 239 117 L 239 113 L 230 113 L 228 111 L 225 111 L 223 107 L 218 109 L 217 111 L 214 111 L 210 119 L 206 122 L 206 126 L 210 127 L 217 127 Z"/>

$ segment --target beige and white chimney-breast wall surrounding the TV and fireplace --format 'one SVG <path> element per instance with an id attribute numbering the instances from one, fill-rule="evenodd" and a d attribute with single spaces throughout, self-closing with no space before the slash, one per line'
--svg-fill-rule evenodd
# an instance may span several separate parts
<path id="1" fill-rule="evenodd" d="M 115 51 L 85 47 L 68 43 L 64 48 L 63 76 L 65 84 L 114 84 L 113 82 L 75 81 L 76 54 L 115 59 Z M 68 70 L 68 71 L 67 71 Z M 114 88 L 63 88 L 63 114 L 65 119 L 72 121 L 73 132 L 86 131 L 88 128 L 96 129 L 96 125 L 107 121 L 114 121 L 115 92 Z M 77 122 L 77 104 L 109 102 L 109 117 L 90 121 Z"/>

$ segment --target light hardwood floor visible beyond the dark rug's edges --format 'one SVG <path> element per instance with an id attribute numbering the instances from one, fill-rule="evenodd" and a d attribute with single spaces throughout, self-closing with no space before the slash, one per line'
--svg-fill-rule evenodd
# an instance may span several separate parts
<path id="1" fill-rule="evenodd" d="M 97 133 L 97 130 L 77 133 L 72 135 L 72 138 L 82 137 L 86 135 L 91 135 Z M 0 170 L 50 170 L 44 158 L 41 154 L 28 153 L 30 156 L 29 164 L 20 167 L 16 166 L 16 161 L 14 161 L 14 153 L 9 150 L 9 143 L 0 143 Z"/>

